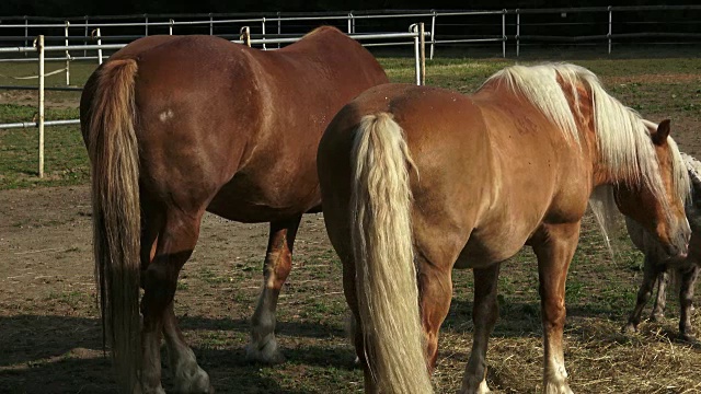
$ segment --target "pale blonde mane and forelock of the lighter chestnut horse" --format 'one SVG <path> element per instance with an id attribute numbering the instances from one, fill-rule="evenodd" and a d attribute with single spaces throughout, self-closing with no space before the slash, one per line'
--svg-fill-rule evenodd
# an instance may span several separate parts
<path id="1" fill-rule="evenodd" d="M 512 66 L 490 77 L 480 90 L 501 83 L 521 94 L 558 126 L 565 140 L 576 143 L 579 149 L 584 134 L 578 130 L 573 111 L 582 115 L 579 103 L 590 100 L 600 161 L 613 182 L 630 186 L 643 184 L 663 201 L 669 215 L 659 164 L 650 137 L 651 129 L 656 129 L 657 125 L 643 119 L 637 112 L 609 95 L 594 72 L 570 63 Z M 583 85 L 590 97 L 582 96 L 578 85 Z M 572 95 L 574 108 L 570 106 L 566 94 Z M 669 137 L 667 142 L 673 157 L 674 187 L 686 202 L 690 193 L 689 173 L 674 139 Z M 589 201 L 610 248 L 608 230 L 613 223 L 613 212 L 617 211 L 612 189 L 595 189 Z"/>

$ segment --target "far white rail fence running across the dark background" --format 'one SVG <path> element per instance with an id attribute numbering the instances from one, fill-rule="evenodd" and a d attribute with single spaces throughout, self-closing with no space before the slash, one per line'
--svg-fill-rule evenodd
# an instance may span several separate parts
<path id="1" fill-rule="evenodd" d="M 662 19 L 673 15 L 674 20 Z M 48 18 L 0 18 L 0 40 L 23 43 L 44 34 L 47 42 L 62 40 L 88 44 L 91 31 L 102 28 L 103 39 L 128 42 L 152 34 L 209 34 L 235 37 L 242 25 L 251 26 L 254 37 L 264 39 L 297 36 L 319 24 L 332 24 L 348 34 L 380 33 L 411 22 L 425 22 L 430 32 L 430 57 L 437 46 L 459 44 L 498 44 L 506 57 L 507 42 L 513 42 L 516 56 L 521 46 L 535 43 L 591 45 L 600 44 L 611 53 L 622 42 L 643 43 L 701 42 L 701 5 L 590 7 L 562 9 L 516 9 L 492 11 L 349 11 L 330 13 L 239 13 L 239 14 L 140 14 L 117 16 L 81 16 L 68 20 Z M 390 26 L 390 27 L 388 27 Z M 49 33 L 50 31 L 51 33 Z M 14 35 L 12 35 L 14 34 Z M 398 45 L 378 43 L 375 45 Z M 20 44 L 22 45 L 22 44 Z M 19 46 L 19 45 L 18 45 Z M 47 60 L 66 60 L 62 58 Z M 87 50 L 82 56 L 88 57 Z M 92 57 L 94 58 L 94 56 Z"/>

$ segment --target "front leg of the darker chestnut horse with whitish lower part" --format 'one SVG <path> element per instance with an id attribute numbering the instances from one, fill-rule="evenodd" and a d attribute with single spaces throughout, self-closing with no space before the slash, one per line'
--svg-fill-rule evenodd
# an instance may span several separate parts
<path id="1" fill-rule="evenodd" d="M 271 223 L 263 268 L 263 291 L 251 318 L 251 341 L 245 348 L 246 359 L 251 361 L 285 361 L 275 339 L 275 310 L 280 289 L 292 267 L 292 247 L 300 221 L 301 216 Z"/>

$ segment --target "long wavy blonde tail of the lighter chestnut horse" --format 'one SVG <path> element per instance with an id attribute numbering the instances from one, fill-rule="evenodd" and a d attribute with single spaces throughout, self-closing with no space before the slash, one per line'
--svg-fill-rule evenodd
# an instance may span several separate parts
<path id="1" fill-rule="evenodd" d="M 432 393 L 412 244 L 414 164 L 391 115 L 365 116 L 356 132 L 350 231 L 366 360 L 379 392 Z"/>

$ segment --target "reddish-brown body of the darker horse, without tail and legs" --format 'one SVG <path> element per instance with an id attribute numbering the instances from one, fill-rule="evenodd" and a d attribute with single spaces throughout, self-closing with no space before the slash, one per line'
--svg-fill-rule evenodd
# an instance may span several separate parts
<path id="1" fill-rule="evenodd" d="M 315 149 L 323 129 L 347 101 L 387 82 L 375 58 L 333 28 L 276 51 L 210 36 L 148 37 L 114 59 L 138 65 L 135 124 L 145 193 L 240 221 L 318 206 Z"/>

